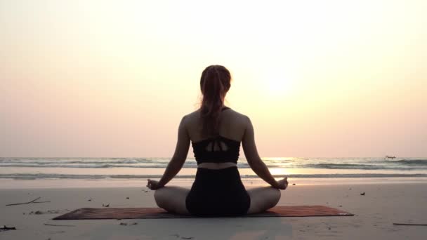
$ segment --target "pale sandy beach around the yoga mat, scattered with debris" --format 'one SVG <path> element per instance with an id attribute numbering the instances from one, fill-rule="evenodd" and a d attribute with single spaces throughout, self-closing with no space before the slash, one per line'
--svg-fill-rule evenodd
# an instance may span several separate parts
<path id="1" fill-rule="evenodd" d="M 425 239 L 426 226 L 393 225 L 427 224 L 425 186 L 425 182 L 388 183 L 387 179 L 370 184 L 297 182 L 282 192 L 278 204 L 330 206 L 354 213 L 353 217 L 136 220 L 51 219 L 103 204 L 155 207 L 154 192 L 145 192 L 145 187 L 0 189 L 0 225 L 16 227 L 0 232 L 0 239 Z M 50 202 L 6 206 L 37 197 Z"/>

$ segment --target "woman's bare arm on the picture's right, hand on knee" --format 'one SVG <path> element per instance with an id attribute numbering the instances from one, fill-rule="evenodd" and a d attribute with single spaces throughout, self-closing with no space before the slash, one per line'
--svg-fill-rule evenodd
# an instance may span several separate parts
<path id="1" fill-rule="evenodd" d="M 251 119 L 249 119 L 249 117 L 247 117 L 247 128 L 244 131 L 242 138 L 242 147 L 249 166 L 251 166 L 252 170 L 256 175 L 258 175 L 258 177 L 262 178 L 265 182 L 268 182 L 268 184 L 274 188 L 286 189 L 287 184 L 284 185 L 282 180 L 277 182 L 275 178 L 272 177 L 270 171 L 268 171 L 268 168 L 265 166 L 263 160 L 261 160 L 261 157 L 258 155 L 258 150 L 255 145 L 254 126 L 252 126 Z"/>

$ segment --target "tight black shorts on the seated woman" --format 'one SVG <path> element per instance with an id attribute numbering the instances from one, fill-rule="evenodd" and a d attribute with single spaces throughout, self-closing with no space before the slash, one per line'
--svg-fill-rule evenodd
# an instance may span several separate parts
<path id="1" fill-rule="evenodd" d="M 202 217 L 244 215 L 250 205 L 251 198 L 237 167 L 197 168 L 195 182 L 185 199 L 188 211 Z"/>

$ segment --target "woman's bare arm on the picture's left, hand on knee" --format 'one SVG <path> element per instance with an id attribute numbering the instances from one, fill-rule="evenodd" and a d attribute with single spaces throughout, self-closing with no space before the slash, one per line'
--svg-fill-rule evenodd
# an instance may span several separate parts
<path id="1" fill-rule="evenodd" d="M 159 189 L 164 187 L 181 170 L 187 159 L 188 149 L 190 148 L 190 136 L 185 127 L 185 116 L 181 119 L 178 127 L 178 140 L 176 142 L 175 152 L 171 161 L 169 161 L 162 178 L 157 181 L 148 180 L 147 187 L 150 189 Z"/>

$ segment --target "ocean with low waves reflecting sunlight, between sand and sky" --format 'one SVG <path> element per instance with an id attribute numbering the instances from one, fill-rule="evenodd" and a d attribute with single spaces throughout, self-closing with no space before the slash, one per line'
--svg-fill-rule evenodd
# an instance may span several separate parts
<path id="1" fill-rule="evenodd" d="M 160 178 L 170 158 L 0 158 L 0 179 Z M 263 158 L 272 175 L 289 178 L 427 177 L 427 158 Z M 239 159 L 242 178 L 256 178 Z M 194 179 L 196 161 L 188 158 L 176 178 Z"/>

